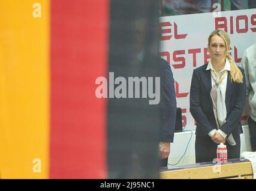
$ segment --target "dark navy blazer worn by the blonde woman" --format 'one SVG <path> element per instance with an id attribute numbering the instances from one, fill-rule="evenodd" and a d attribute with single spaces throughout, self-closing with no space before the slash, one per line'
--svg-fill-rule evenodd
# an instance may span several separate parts
<path id="1" fill-rule="evenodd" d="M 207 64 L 194 69 L 190 90 L 190 110 L 197 122 L 195 134 L 206 136 L 213 129 L 217 129 L 213 113 L 210 91 L 212 89 L 210 70 L 206 70 Z M 238 84 L 230 81 L 230 72 L 227 76 L 227 89 L 225 104 L 227 108 L 226 124 L 221 130 L 228 135 L 243 133 L 240 118 L 245 106 L 245 71 L 239 67 L 243 74 L 243 83 Z M 207 135 L 208 136 L 208 135 Z"/>

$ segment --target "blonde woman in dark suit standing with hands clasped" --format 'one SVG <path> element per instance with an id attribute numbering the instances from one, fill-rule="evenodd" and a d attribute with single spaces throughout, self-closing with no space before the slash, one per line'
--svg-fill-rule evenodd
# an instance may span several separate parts
<path id="1" fill-rule="evenodd" d="M 240 117 L 245 106 L 245 73 L 228 53 L 230 38 L 214 30 L 208 38 L 210 61 L 194 70 L 190 90 L 191 114 L 197 122 L 195 161 L 216 158 L 219 143 L 225 143 L 228 159 L 240 158 Z"/>

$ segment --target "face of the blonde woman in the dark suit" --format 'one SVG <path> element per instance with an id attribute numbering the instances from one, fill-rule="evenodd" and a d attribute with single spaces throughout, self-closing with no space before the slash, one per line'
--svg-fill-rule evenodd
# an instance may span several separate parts
<path id="1" fill-rule="evenodd" d="M 218 35 L 213 35 L 212 38 L 210 38 L 210 44 L 209 44 L 209 51 L 210 51 L 210 57 L 212 60 L 223 60 L 225 58 L 225 41 Z"/>

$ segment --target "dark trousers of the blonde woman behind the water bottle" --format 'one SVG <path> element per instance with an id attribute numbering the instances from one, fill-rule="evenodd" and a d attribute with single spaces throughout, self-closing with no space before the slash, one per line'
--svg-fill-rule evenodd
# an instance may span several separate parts
<path id="1" fill-rule="evenodd" d="M 226 141 L 228 159 L 240 158 L 240 135 L 233 135 L 236 141 L 235 146 L 231 146 Z M 217 158 L 217 146 L 210 136 L 195 136 L 195 162 L 213 162 Z"/>

